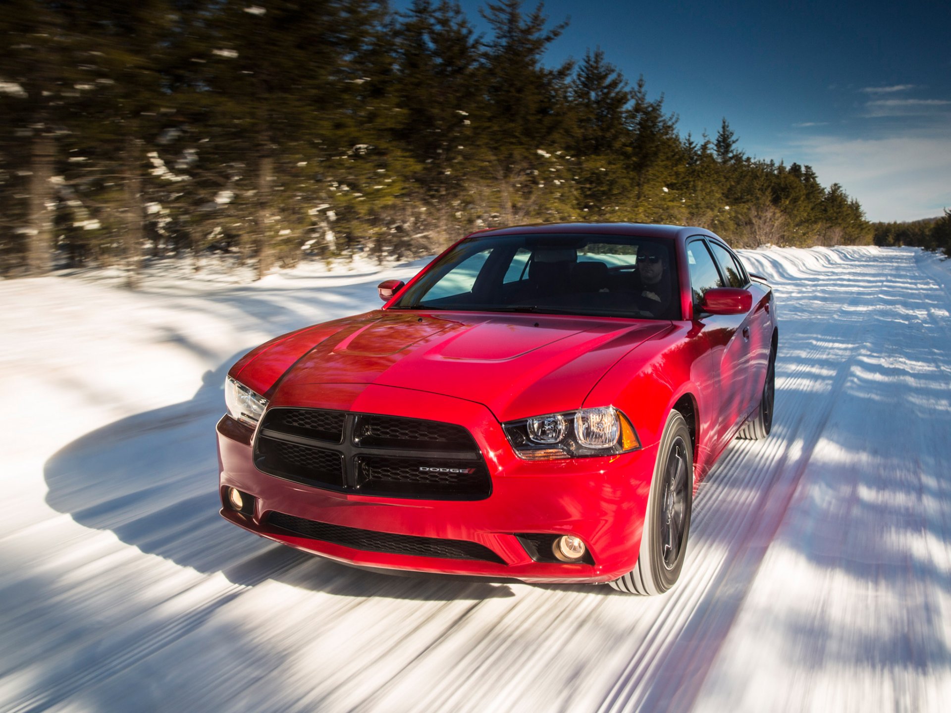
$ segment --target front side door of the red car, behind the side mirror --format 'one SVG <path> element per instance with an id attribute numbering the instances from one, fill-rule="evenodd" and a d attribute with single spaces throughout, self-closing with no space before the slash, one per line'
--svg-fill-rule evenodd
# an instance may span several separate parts
<path id="1" fill-rule="evenodd" d="M 747 394 L 739 366 L 748 359 L 748 340 L 742 325 L 746 315 L 710 315 L 703 312 L 701 303 L 708 289 L 727 287 L 720 267 L 708 248 L 707 241 L 695 238 L 687 243 L 687 262 L 690 273 L 690 292 L 693 297 L 694 326 L 708 350 L 709 368 L 717 378 L 718 403 L 713 416 L 715 425 L 710 429 L 711 455 L 723 450 L 736 433 L 735 426 L 746 415 Z M 742 413 L 741 413 L 742 412 Z"/>

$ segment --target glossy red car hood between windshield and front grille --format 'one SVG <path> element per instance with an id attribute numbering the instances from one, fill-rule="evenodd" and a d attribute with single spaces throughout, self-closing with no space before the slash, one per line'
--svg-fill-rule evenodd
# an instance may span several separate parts
<path id="1" fill-rule="evenodd" d="M 668 321 L 393 310 L 336 325 L 339 330 L 286 371 L 274 399 L 293 403 L 295 392 L 314 393 L 301 388 L 306 385 L 378 384 L 474 401 L 499 420 L 565 411 L 586 405 L 585 397 L 611 365 L 671 326 Z"/>

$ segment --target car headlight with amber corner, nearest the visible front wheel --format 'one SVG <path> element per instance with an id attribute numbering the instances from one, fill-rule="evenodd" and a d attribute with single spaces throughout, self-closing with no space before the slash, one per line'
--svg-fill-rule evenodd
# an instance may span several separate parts
<path id="1" fill-rule="evenodd" d="M 613 455 L 641 447 L 631 421 L 613 406 L 533 416 L 503 423 L 502 429 L 526 460 Z"/>

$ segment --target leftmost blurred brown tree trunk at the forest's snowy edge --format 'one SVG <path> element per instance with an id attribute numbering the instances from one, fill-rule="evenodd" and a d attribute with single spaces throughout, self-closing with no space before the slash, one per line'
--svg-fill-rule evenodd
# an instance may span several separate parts
<path id="1" fill-rule="evenodd" d="M 29 239 L 27 269 L 30 275 L 46 275 L 52 269 L 53 227 L 56 193 L 52 184 L 56 161 L 55 139 L 49 126 L 39 125 L 33 135 L 29 178 Z"/>

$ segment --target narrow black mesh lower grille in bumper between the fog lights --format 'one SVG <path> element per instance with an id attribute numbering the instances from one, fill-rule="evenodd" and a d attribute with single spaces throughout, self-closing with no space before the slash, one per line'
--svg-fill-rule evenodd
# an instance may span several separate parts
<path id="1" fill-rule="evenodd" d="M 491 549 L 466 540 L 443 540 L 437 537 L 416 537 L 374 530 L 358 530 L 341 525 L 304 520 L 301 517 L 272 512 L 267 522 L 275 528 L 288 530 L 302 537 L 369 552 L 412 554 L 418 557 L 444 557 L 456 560 L 481 560 L 504 565 L 505 561 Z"/>

